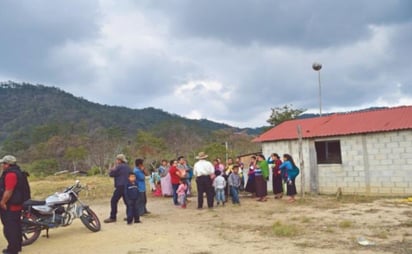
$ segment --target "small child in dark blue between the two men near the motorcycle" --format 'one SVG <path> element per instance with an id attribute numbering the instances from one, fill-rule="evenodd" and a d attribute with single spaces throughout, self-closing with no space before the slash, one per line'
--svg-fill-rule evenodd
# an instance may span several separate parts
<path id="1" fill-rule="evenodd" d="M 133 223 L 140 223 L 139 216 L 139 188 L 136 184 L 136 176 L 133 172 L 129 173 L 129 182 L 125 187 L 125 198 L 127 204 L 127 224 L 131 225 Z"/>

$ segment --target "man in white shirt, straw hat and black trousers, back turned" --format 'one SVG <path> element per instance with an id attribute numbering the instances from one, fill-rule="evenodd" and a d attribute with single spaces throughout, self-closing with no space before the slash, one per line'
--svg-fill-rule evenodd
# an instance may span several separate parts
<path id="1" fill-rule="evenodd" d="M 197 184 L 197 209 L 203 208 L 203 193 L 206 193 L 207 206 L 213 208 L 213 187 L 215 168 L 210 161 L 206 160 L 207 154 L 200 152 L 198 160 L 193 167 L 193 175 L 196 177 Z"/>

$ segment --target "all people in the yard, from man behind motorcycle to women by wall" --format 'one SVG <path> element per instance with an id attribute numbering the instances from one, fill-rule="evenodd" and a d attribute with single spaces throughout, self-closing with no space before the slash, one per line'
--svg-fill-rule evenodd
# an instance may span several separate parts
<path id="1" fill-rule="evenodd" d="M 196 179 L 197 185 L 197 208 L 203 208 L 203 199 L 206 195 L 207 206 L 213 207 L 214 199 L 217 205 L 224 205 L 230 195 L 233 204 L 240 204 L 239 192 L 244 186 L 244 165 L 240 158 L 235 163 L 228 159 L 224 166 L 220 159 L 215 159 L 213 164 L 207 160 L 208 155 L 200 152 L 196 156 L 196 163 L 191 168 L 185 158 L 180 156 L 177 160 L 162 161 L 158 168 L 158 177 L 152 174 L 153 191 L 162 195 L 173 196 L 173 203 L 186 208 L 187 195 L 191 193 L 192 177 Z M 21 251 L 22 232 L 20 226 L 20 213 L 23 205 L 18 200 L 19 177 L 21 174 L 17 160 L 14 156 L 7 155 L 0 160 L 3 169 L 0 178 L 0 215 L 3 223 L 3 233 L 7 239 L 8 246 L 3 253 L 18 253 Z M 146 208 L 146 176 L 149 172 L 144 166 L 143 159 L 135 160 L 132 170 L 125 155 L 116 156 L 116 166 L 109 175 L 114 178 L 114 192 L 111 198 L 110 216 L 104 220 L 105 223 L 117 220 L 117 205 L 122 198 L 126 205 L 126 222 L 128 225 L 140 223 L 140 216 L 149 213 Z M 286 195 L 289 202 L 295 201 L 296 185 L 295 179 L 299 174 L 292 156 L 283 155 L 283 161 L 276 153 L 265 159 L 264 155 L 258 154 L 251 157 L 247 172 L 247 183 L 245 191 L 256 196 L 257 201 L 267 200 L 267 181 L 269 170 L 272 170 L 272 187 L 275 199 L 281 199 L 284 193 L 283 185 L 286 184 Z"/>

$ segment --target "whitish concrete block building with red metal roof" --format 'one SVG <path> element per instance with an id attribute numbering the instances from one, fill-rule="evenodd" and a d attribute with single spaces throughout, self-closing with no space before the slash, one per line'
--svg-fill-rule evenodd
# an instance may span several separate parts
<path id="1" fill-rule="evenodd" d="M 289 153 L 299 164 L 298 126 L 306 191 L 412 194 L 412 106 L 291 120 L 254 141 L 265 156 Z"/>

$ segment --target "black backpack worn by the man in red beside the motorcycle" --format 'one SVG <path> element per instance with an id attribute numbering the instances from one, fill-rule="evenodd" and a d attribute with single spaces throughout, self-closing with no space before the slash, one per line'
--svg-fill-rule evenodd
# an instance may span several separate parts
<path id="1" fill-rule="evenodd" d="M 28 180 L 30 174 L 26 171 L 21 171 L 19 167 L 11 167 L 7 171 L 4 171 L 1 177 L 1 192 L 4 192 L 5 190 L 4 180 L 6 178 L 6 175 L 11 172 L 14 172 L 17 175 L 17 184 L 13 191 L 13 195 L 7 203 L 12 205 L 20 205 L 31 198 L 31 191 Z"/>

